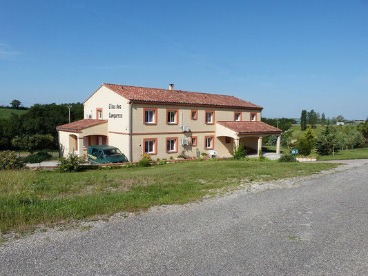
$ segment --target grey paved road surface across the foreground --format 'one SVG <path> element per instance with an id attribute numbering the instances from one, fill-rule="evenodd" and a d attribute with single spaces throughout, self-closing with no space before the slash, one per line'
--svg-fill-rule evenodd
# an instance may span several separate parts
<path id="1" fill-rule="evenodd" d="M 301 188 L 33 235 L 0 247 L 0 275 L 367 275 L 367 179 L 363 165 Z"/>

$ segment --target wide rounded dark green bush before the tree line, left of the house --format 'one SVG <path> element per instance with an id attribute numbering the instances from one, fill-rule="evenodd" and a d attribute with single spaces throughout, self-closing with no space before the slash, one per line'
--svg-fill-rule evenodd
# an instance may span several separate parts
<path id="1" fill-rule="evenodd" d="M 22 137 L 15 137 L 12 139 L 12 145 L 15 148 L 20 148 L 30 152 L 32 155 L 37 150 L 47 150 L 52 147 L 54 137 L 52 135 L 23 135 Z"/>

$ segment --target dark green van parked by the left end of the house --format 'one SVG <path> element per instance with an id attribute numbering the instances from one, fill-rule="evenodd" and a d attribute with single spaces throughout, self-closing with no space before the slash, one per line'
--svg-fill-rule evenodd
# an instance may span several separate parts
<path id="1" fill-rule="evenodd" d="M 124 163 L 128 161 L 119 148 L 107 145 L 89 146 L 87 159 L 89 164 Z"/>

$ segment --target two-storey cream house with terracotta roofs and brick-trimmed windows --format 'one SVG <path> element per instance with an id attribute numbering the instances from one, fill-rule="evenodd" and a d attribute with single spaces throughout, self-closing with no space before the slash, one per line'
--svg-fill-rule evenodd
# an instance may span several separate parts
<path id="1" fill-rule="evenodd" d="M 138 161 L 197 157 L 215 150 L 229 157 L 233 144 L 262 150 L 262 137 L 282 130 L 261 121 L 262 107 L 233 96 L 103 83 L 84 101 L 84 119 L 57 126 L 61 156 L 86 156 L 88 146 L 116 146 Z"/>

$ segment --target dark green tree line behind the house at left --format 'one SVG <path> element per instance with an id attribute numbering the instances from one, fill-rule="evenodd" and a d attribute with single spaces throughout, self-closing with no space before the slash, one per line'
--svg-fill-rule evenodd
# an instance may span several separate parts
<path id="1" fill-rule="evenodd" d="M 9 119 L 0 118 L 0 150 L 17 150 L 16 144 L 12 143 L 15 137 L 23 137 L 24 143 L 30 138 L 26 135 L 51 135 L 49 149 L 57 149 L 56 127 L 68 124 L 68 103 L 35 104 L 22 115 L 12 113 Z M 70 121 L 84 118 L 84 106 L 82 103 L 70 104 Z"/>

